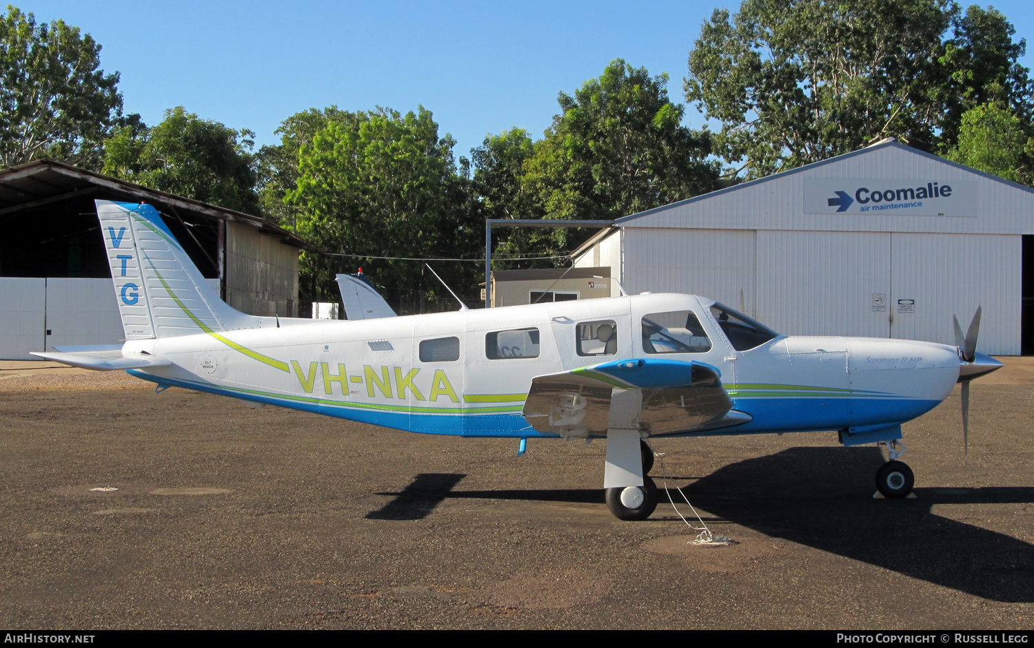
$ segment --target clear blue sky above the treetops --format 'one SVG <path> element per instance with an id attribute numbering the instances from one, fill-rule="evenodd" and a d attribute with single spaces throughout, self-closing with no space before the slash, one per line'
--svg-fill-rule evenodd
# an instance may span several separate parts
<path id="1" fill-rule="evenodd" d="M 105 71 L 121 73 L 127 113 L 148 124 L 183 105 L 275 144 L 286 117 L 337 104 L 351 111 L 423 104 L 468 155 L 513 126 L 540 137 L 574 92 L 624 58 L 670 75 L 683 101 L 693 41 L 716 6 L 698 2 L 223 2 L 22 0 L 38 22 L 91 34 Z M 963 3 L 967 6 L 968 3 Z M 987 6 L 987 3 L 979 3 Z M 1034 50 L 1028 3 L 992 3 Z M 1034 55 L 1024 64 L 1034 67 Z M 687 123 L 703 118 L 692 106 Z"/>

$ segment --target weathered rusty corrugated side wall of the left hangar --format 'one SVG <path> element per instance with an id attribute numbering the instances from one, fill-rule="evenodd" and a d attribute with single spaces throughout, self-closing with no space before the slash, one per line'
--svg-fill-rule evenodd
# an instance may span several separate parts
<path id="1" fill-rule="evenodd" d="M 226 225 L 226 303 L 251 315 L 298 317 L 298 248 Z"/>

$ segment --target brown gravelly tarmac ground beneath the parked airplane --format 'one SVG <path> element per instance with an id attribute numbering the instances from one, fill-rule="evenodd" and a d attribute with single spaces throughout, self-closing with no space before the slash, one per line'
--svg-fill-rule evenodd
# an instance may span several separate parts
<path id="1" fill-rule="evenodd" d="M 45 366 L 0 366 L 4 627 L 1034 628 L 1031 364 L 974 383 L 968 462 L 957 390 L 905 426 L 914 499 L 834 433 L 657 441 L 721 548 L 668 503 L 614 519 L 602 442 Z"/>

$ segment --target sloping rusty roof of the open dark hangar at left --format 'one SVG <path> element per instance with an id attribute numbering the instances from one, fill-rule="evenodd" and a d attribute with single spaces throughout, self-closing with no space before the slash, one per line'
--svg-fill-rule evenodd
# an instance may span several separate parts
<path id="1" fill-rule="evenodd" d="M 41 159 L 0 171 L 0 216 L 94 193 L 102 193 L 107 199 L 144 200 L 159 209 L 168 207 L 174 215 L 183 210 L 184 215 L 194 218 L 238 222 L 278 238 L 281 243 L 315 249 L 301 237 L 257 216 L 149 189 L 63 162 Z"/>

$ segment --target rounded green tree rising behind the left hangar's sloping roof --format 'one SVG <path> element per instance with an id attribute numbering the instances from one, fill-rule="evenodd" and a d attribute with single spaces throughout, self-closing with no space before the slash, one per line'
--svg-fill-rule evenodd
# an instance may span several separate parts
<path id="1" fill-rule="evenodd" d="M 118 128 L 105 143 L 103 173 L 196 200 L 258 214 L 249 130 L 203 120 L 183 106 L 148 128 Z"/>

